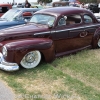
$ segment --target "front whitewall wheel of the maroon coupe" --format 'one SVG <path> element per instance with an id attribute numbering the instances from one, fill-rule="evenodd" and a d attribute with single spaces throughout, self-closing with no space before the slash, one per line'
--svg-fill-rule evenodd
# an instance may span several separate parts
<path id="1" fill-rule="evenodd" d="M 21 60 L 20 64 L 26 68 L 34 68 L 36 67 L 41 61 L 41 53 L 39 51 L 31 51 L 28 52 Z"/>

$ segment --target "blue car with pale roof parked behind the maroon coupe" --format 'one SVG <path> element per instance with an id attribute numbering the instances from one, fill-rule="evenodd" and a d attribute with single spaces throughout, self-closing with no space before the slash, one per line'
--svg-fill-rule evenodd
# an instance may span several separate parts
<path id="1" fill-rule="evenodd" d="M 10 9 L 0 18 L 0 29 L 27 23 L 38 8 Z"/>

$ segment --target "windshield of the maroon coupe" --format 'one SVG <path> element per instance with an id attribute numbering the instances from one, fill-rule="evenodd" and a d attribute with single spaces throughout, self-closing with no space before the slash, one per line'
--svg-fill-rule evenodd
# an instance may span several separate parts
<path id="1" fill-rule="evenodd" d="M 45 24 L 45 25 L 53 25 L 55 21 L 55 17 L 51 15 L 46 14 L 35 14 L 31 18 L 30 22 L 36 23 L 36 24 Z"/>

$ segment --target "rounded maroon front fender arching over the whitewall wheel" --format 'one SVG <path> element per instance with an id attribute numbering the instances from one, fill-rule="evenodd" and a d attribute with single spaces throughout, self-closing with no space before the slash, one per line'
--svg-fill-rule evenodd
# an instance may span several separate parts
<path id="1" fill-rule="evenodd" d="M 51 61 L 55 57 L 53 41 L 48 38 L 13 40 L 6 43 L 4 46 L 6 46 L 8 50 L 6 60 L 10 60 L 10 62 L 14 61 L 18 64 L 23 56 L 32 50 L 39 50 L 44 55 L 47 62 Z"/>

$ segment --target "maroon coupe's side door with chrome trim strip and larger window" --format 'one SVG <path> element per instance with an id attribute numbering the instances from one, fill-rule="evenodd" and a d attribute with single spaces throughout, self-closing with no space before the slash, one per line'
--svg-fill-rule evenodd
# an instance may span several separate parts
<path id="1" fill-rule="evenodd" d="M 80 15 L 67 16 L 66 25 L 58 24 L 55 34 L 56 53 L 71 52 L 87 46 L 87 33 Z"/>

